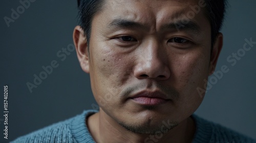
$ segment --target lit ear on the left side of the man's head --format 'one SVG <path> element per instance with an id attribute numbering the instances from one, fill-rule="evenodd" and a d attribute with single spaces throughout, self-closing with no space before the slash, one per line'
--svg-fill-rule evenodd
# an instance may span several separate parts
<path id="1" fill-rule="evenodd" d="M 87 39 L 83 35 L 83 29 L 76 26 L 73 33 L 73 40 L 76 47 L 77 58 L 82 70 L 89 73 L 89 52 Z"/>

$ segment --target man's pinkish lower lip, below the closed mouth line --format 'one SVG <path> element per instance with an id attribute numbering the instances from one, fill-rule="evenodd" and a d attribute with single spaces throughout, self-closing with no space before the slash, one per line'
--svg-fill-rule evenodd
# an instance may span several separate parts
<path id="1" fill-rule="evenodd" d="M 159 105 L 168 101 L 161 98 L 150 98 L 150 97 L 137 97 L 132 99 L 139 104 L 148 105 L 148 106 Z"/>

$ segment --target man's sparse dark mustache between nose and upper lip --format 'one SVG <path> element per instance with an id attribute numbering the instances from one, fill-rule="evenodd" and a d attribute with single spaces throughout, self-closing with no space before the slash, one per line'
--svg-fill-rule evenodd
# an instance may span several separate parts
<path id="1" fill-rule="evenodd" d="M 130 85 L 129 87 L 125 88 L 120 93 L 120 97 L 123 99 L 127 99 L 131 97 L 131 94 L 140 92 L 145 89 L 153 89 L 158 90 L 165 94 L 167 98 L 177 101 L 180 97 L 180 93 L 174 88 L 166 85 L 162 85 L 159 83 L 135 83 Z"/>

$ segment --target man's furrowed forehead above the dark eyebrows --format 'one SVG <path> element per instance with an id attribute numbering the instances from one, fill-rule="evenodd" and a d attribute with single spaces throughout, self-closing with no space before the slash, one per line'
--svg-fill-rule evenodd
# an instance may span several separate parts
<path id="1" fill-rule="evenodd" d="M 105 0 L 99 14 L 102 22 L 122 18 L 157 27 L 176 19 L 205 20 L 205 6 L 204 0 Z"/>

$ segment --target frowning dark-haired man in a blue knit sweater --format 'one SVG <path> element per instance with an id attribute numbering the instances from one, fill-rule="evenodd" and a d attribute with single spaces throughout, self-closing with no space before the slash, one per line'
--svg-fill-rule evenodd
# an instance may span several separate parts
<path id="1" fill-rule="evenodd" d="M 78 60 L 99 111 L 13 142 L 256 142 L 193 113 L 216 67 L 224 1 L 78 1 Z"/>

